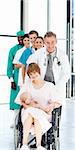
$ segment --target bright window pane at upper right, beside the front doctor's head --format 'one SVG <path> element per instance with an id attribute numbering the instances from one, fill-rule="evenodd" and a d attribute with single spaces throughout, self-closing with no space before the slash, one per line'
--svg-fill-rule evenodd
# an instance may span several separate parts
<path id="1" fill-rule="evenodd" d="M 65 52 L 66 52 L 66 11 L 67 7 L 65 0 L 56 0 L 56 1 L 50 0 L 49 30 L 56 33 L 58 39 L 58 47 L 63 49 Z"/>

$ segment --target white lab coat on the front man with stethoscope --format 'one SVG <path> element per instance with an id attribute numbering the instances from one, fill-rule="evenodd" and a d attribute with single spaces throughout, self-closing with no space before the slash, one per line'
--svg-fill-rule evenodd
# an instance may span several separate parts
<path id="1" fill-rule="evenodd" d="M 57 59 L 60 61 L 61 65 L 57 64 Z M 35 62 L 39 65 L 41 70 L 41 77 L 44 79 L 46 69 L 47 69 L 47 50 L 46 48 L 41 48 L 32 54 L 27 60 L 27 64 Z M 66 82 L 70 78 L 70 65 L 68 61 L 68 56 L 62 50 L 57 49 L 57 58 L 53 61 L 53 74 L 55 79 L 56 88 L 59 93 L 62 94 L 63 99 L 66 95 L 65 87 Z"/>

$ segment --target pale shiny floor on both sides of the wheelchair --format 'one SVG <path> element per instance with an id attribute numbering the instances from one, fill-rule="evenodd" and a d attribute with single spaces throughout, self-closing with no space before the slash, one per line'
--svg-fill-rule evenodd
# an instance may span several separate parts
<path id="1" fill-rule="evenodd" d="M 0 150 L 15 150 L 12 113 L 8 104 L 0 104 Z M 60 149 L 75 149 L 75 100 L 66 100 L 60 121 Z"/>

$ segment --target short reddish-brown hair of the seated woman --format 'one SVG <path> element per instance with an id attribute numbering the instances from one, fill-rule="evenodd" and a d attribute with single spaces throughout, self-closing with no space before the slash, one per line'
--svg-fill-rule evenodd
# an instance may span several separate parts
<path id="1" fill-rule="evenodd" d="M 27 67 L 27 75 L 29 76 L 29 78 L 30 74 L 35 72 L 40 74 L 40 67 L 36 63 L 30 63 Z"/>

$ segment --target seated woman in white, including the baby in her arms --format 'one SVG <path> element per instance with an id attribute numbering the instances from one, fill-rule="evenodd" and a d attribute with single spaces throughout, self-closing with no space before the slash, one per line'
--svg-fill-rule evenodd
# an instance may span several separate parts
<path id="1" fill-rule="evenodd" d="M 61 105 L 58 91 L 51 82 L 41 79 L 40 68 L 36 63 L 27 67 L 30 84 L 20 90 L 16 103 L 20 100 L 23 124 L 23 145 L 20 150 L 29 150 L 28 135 L 32 125 L 36 136 L 37 150 L 45 150 L 41 146 L 42 135 L 51 128 L 51 112 Z"/>

